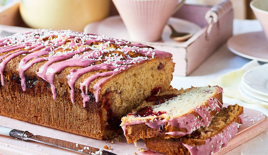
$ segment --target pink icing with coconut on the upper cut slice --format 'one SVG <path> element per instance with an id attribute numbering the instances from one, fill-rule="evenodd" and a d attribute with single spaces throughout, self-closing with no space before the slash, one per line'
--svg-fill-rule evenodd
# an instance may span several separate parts
<path id="1" fill-rule="evenodd" d="M 198 114 L 198 117 L 196 117 L 194 114 L 188 113 L 186 115 L 183 115 L 182 117 L 177 118 L 171 118 L 169 120 L 163 119 L 163 120 L 155 120 L 153 122 L 147 122 L 146 120 L 139 120 L 139 121 L 132 121 L 127 122 L 122 126 L 122 129 L 124 131 L 124 134 L 126 132 L 126 127 L 128 125 L 135 125 L 135 124 L 142 124 L 145 123 L 147 126 L 156 129 L 159 128 L 162 124 L 165 124 L 168 122 L 168 126 L 173 126 L 179 129 L 185 129 L 184 131 L 173 131 L 173 132 L 167 132 L 165 134 L 167 135 L 174 135 L 174 136 L 184 136 L 187 134 L 191 134 L 193 131 L 199 129 L 200 127 L 209 126 L 212 116 L 210 115 L 210 111 L 216 110 L 216 112 L 219 112 L 222 108 L 222 103 L 217 100 L 217 98 L 211 98 L 209 99 L 209 106 L 208 107 L 196 107 L 195 112 Z M 201 118 L 201 120 L 199 119 Z"/>

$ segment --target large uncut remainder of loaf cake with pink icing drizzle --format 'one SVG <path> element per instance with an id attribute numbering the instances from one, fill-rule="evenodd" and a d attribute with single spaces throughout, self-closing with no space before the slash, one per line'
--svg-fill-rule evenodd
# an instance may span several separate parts
<path id="1" fill-rule="evenodd" d="M 0 115 L 95 139 L 169 89 L 168 52 L 70 30 L 37 29 L 0 40 Z"/>

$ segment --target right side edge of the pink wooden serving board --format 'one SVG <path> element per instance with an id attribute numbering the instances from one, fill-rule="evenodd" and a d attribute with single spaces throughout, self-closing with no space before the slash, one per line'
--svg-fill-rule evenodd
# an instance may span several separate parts
<path id="1" fill-rule="evenodd" d="M 214 154 L 222 155 L 224 153 L 227 153 L 228 151 L 231 151 L 232 149 L 247 142 L 248 140 L 253 139 L 257 135 L 260 135 L 261 133 L 266 131 L 267 128 L 268 128 L 268 118 L 267 116 L 265 116 L 265 118 L 261 120 L 260 122 L 257 122 L 253 124 L 252 126 L 249 126 L 248 128 L 238 132 L 235 135 L 235 137 L 231 139 L 231 141 L 227 144 L 226 147 L 221 148 L 217 153 L 214 153 Z"/>

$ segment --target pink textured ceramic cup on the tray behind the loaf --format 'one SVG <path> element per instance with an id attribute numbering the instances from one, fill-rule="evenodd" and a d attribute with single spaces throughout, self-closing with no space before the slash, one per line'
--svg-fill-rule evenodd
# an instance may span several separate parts
<path id="1" fill-rule="evenodd" d="M 132 41 L 157 41 L 169 17 L 185 0 L 112 0 Z"/>

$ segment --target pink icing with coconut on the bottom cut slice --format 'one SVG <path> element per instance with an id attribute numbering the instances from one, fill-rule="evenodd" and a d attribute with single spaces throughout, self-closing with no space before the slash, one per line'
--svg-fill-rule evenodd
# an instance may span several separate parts
<path id="1" fill-rule="evenodd" d="M 240 121 L 242 124 L 244 124 L 243 119 L 243 113 L 239 115 Z M 238 128 L 241 124 L 238 124 L 237 122 L 233 121 L 231 122 L 226 128 L 222 131 L 217 133 L 211 138 L 205 139 L 204 145 L 187 145 L 183 144 L 191 153 L 191 155 L 210 155 L 217 151 L 219 151 L 220 148 L 226 147 L 227 142 L 231 140 L 235 134 L 238 131 Z"/>

